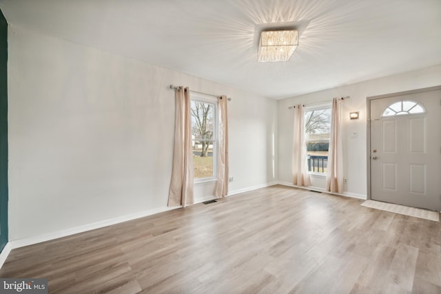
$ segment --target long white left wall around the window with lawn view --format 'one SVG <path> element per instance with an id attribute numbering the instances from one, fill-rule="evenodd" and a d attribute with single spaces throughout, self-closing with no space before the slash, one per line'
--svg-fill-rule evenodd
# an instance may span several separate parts
<path id="1" fill-rule="evenodd" d="M 267 185 L 277 103 L 12 25 L 10 240 L 167 205 L 174 85 L 226 94 L 230 191 Z"/>

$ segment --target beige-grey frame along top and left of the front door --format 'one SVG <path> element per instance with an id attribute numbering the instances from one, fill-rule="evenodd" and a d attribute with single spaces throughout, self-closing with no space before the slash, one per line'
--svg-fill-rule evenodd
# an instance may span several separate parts
<path id="1" fill-rule="evenodd" d="M 366 118 L 367 118 L 367 154 L 366 154 L 366 161 L 367 161 L 367 199 L 372 199 L 371 194 L 371 101 L 376 99 L 382 99 L 382 98 L 389 98 L 394 96 L 402 96 L 402 95 L 409 95 L 409 94 L 416 94 L 416 93 L 422 93 L 422 92 L 430 92 L 430 91 L 438 91 L 441 90 L 441 85 L 434 86 L 434 87 L 426 87 L 416 90 L 409 90 L 404 92 L 395 92 L 390 94 L 382 94 L 382 95 L 376 95 L 376 96 L 368 96 L 366 98 Z"/>

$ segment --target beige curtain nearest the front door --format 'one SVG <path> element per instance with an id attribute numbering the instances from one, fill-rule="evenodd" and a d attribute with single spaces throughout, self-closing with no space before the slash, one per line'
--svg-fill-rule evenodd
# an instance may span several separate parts
<path id="1" fill-rule="evenodd" d="M 333 193 L 343 193 L 343 149 L 341 125 L 342 100 L 332 101 L 331 138 L 326 174 L 326 189 Z"/>

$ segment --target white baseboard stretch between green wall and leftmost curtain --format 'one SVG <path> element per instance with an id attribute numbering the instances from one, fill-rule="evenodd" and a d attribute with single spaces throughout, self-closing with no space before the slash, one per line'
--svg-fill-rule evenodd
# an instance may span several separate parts
<path id="1" fill-rule="evenodd" d="M 159 209 L 151 209 L 148 211 L 141 211 L 139 213 L 132 213 L 127 216 L 121 216 L 118 218 L 111 218 L 109 220 L 103 220 L 101 222 L 94 222 L 92 224 L 85 224 L 83 226 L 74 227 L 71 229 L 55 231 L 52 233 L 45 233 L 43 235 L 38 235 L 38 236 L 30 237 L 30 238 L 12 240 L 8 244 L 10 244 L 11 249 L 15 249 L 15 248 L 23 247 L 23 246 L 28 246 L 28 245 L 32 245 L 32 244 L 37 244 L 37 243 L 49 241 L 49 240 L 54 240 L 57 238 L 62 238 L 62 237 L 68 236 L 68 235 L 74 235 L 76 233 L 83 233 L 85 231 L 91 231 L 94 229 L 107 227 L 112 224 L 119 224 L 120 222 L 127 222 L 129 220 L 135 220 L 136 218 L 143 218 L 145 216 L 152 216 L 153 214 L 156 214 L 156 213 L 170 211 L 172 209 L 178 209 L 178 208 L 181 208 L 181 207 L 180 206 L 178 206 L 178 207 L 161 207 Z"/>

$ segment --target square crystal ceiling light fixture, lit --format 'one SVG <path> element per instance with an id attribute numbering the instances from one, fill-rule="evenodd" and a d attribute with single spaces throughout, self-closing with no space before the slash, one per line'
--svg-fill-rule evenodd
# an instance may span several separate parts
<path id="1" fill-rule="evenodd" d="M 288 61 L 298 46 L 298 30 L 260 33 L 258 61 Z"/>

